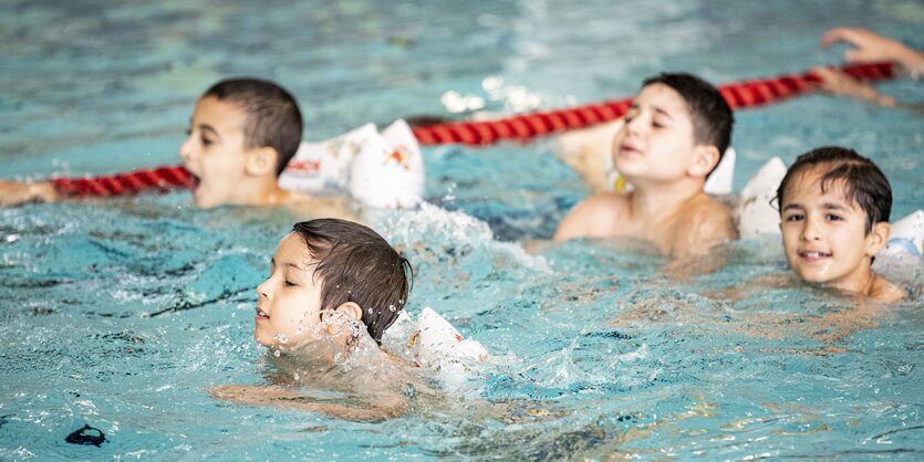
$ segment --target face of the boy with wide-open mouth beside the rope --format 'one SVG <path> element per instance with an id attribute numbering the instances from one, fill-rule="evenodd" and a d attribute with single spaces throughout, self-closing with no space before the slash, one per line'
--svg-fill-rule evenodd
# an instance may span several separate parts
<path id="1" fill-rule="evenodd" d="M 196 102 L 189 135 L 179 147 L 183 165 L 196 176 L 196 206 L 210 208 L 240 202 L 247 149 L 247 114 L 238 105 L 205 96 Z"/>

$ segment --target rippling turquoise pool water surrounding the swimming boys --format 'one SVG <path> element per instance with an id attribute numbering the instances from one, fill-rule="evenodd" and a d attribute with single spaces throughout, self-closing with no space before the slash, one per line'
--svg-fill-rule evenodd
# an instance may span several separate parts
<path id="1" fill-rule="evenodd" d="M 0 177 L 176 164 L 194 99 L 229 75 L 291 88 L 320 139 L 469 115 L 448 113 L 449 91 L 490 115 L 631 95 L 662 70 L 800 72 L 839 62 L 817 46 L 839 24 L 924 45 L 914 1 L 469 3 L 3 2 Z M 881 88 L 924 101 L 921 82 Z M 840 144 L 882 166 L 893 218 L 924 206 L 918 116 L 809 96 L 736 117 L 736 189 L 772 156 Z M 548 238 L 586 195 L 548 141 L 425 156 L 436 207 L 377 227 L 417 270 L 408 309 L 432 306 L 510 359 L 468 400 L 548 418 L 446 406 L 356 423 L 214 401 L 211 386 L 263 380 L 253 287 L 300 217 L 196 210 L 176 192 L 0 209 L 0 459 L 924 456 L 921 264 L 893 269 L 907 302 L 839 318 L 851 301 L 810 287 L 728 296 L 785 272 L 772 239 L 683 281 L 633 243 L 527 254 L 518 242 Z M 107 442 L 64 441 L 84 424 Z"/>

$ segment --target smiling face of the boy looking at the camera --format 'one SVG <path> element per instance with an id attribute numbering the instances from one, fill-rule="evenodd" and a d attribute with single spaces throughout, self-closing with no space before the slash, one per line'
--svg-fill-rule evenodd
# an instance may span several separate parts
<path id="1" fill-rule="evenodd" d="M 875 233 L 866 233 L 866 212 L 844 197 L 842 183 L 821 193 L 828 170 L 813 167 L 787 186 L 780 204 L 786 259 L 803 281 L 862 292 L 879 250 Z"/>

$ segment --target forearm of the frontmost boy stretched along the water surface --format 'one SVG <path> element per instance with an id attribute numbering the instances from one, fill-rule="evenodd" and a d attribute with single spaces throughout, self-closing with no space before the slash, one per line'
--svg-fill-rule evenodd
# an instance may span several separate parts
<path id="1" fill-rule="evenodd" d="M 407 411 L 407 402 L 397 397 L 387 398 L 380 396 L 376 397 L 375 405 L 353 407 L 322 401 L 310 395 L 274 386 L 222 385 L 210 389 L 209 395 L 215 399 L 241 405 L 299 409 L 320 412 L 336 419 L 364 422 L 392 419 Z"/>

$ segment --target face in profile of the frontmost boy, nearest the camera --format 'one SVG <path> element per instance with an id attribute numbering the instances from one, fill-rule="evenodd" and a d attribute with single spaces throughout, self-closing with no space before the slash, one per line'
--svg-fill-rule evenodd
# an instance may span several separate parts
<path id="1" fill-rule="evenodd" d="M 294 348 L 321 333 L 321 282 L 301 237 L 287 235 L 276 250 L 270 276 L 257 286 L 253 338 L 267 347 Z"/>

